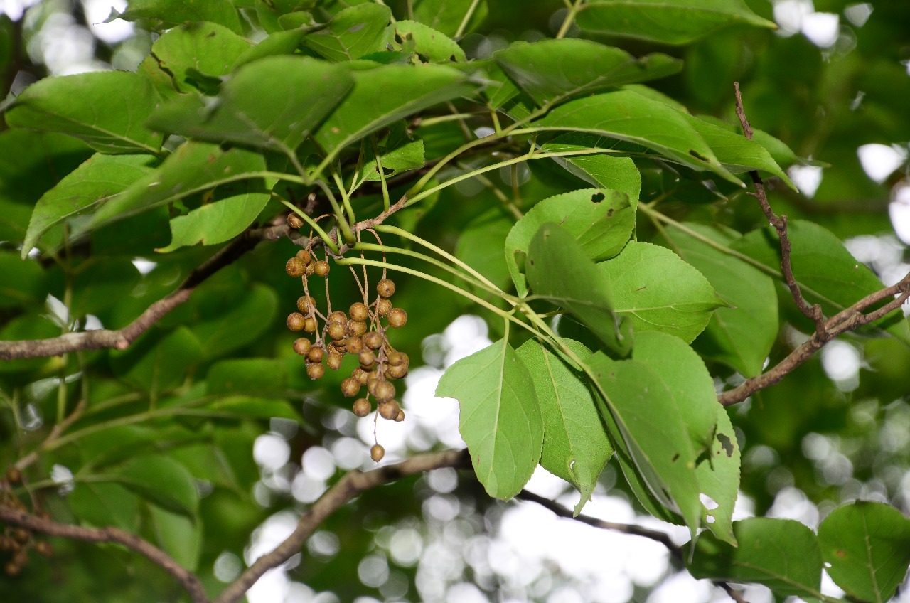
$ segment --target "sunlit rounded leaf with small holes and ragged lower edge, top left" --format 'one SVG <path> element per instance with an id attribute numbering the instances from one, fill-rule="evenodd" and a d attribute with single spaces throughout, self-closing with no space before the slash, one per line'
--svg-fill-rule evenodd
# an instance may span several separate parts
<path id="1" fill-rule="evenodd" d="M 227 76 L 238 57 L 251 46 L 227 27 L 193 23 L 162 34 L 138 70 L 156 82 L 159 89 L 194 92 L 201 84 L 194 74 Z"/>

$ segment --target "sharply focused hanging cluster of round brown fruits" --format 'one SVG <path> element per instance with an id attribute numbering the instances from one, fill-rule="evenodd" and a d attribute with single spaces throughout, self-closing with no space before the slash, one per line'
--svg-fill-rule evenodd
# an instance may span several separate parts
<path id="1" fill-rule="evenodd" d="M 320 312 L 316 301 L 309 294 L 308 277 L 329 275 L 329 262 L 318 260 L 312 249 L 299 250 L 285 265 L 288 276 L 298 277 L 303 283 L 304 294 L 298 298 L 298 312 L 288 314 L 288 329 L 306 332 L 308 336 L 294 342 L 294 352 L 303 356 L 307 363 L 310 379 L 319 379 L 326 367 L 339 370 L 346 354 L 357 357 L 359 366 L 341 382 L 341 393 L 357 398 L 353 404 L 354 414 L 367 416 L 376 401 L 377 414 L 390 421 L 403 421 L 404 411 L 395 400 L 395 384 L 392 383 L 408 374 L 408 354 L 399 352 L 389 342 L 389 329 L 399 329 L 408 322 L 408 313 L 392 306 L 395 283 L 386 278 L 376 283 L 376 295 L 370 299 L 369 283 L 359 282 L 363 301 L 352 303 L 348 312 L 331 311 L 327 288 L 326 313 Z M 366 392 L 363 390 L 366 389 Z M 379 462 L 385 451 L 377 444 L 370 450 L 370 456 Z"/>

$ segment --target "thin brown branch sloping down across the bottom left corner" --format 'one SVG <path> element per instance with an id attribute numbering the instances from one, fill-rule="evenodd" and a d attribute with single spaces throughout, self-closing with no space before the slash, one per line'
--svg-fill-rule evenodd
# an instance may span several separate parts
<path id="1" fill-rule="evenodd" d="M 187 589 L 187 593 L 189 593 L 193 603 L 207 603 L 208 601 L 206 591 L 195 574 L 180 566 L 177 561 L 168 557 L 163 550 L 137 537 L 135 534 L 130 534 L 116 527 L 93 528 L 58 524 L 51 519 L 30 515 L 25 513 L 25 511 L 19 511 L 8 506 L 0 506 L 0 521 L 14 526 L 22 526 L 52 537 L 84 540 L 86 542 L 116 542 L 147 557 L 149 561 L 167 571 L 183 588 Z"/>

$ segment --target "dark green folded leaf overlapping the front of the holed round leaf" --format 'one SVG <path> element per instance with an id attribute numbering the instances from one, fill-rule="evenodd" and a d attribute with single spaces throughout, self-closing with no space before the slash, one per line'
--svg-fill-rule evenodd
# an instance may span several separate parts
<path id="1" fill-rule="evenodd" d="M 531 292 L 584 322 L 613 353 L 632 348 L 632 323 L 612 311 L 612 286 L 572 235 L 555 222 L 541 226 L 528 247 Z"/>

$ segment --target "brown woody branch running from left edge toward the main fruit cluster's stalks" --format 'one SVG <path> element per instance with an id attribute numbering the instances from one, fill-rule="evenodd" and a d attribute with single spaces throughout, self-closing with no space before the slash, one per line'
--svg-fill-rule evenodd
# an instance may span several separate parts
<path id="1" fill-rule="evenodd" d="M 123 329 L 70 332 L 52 339 L 0 342 L 0 360 L 45 358 L 104 348 L 125 350 L 130 343 L 136 341 L 139 335 L 146 332 L 168 312 L 187 301 L 193 291 L 208 277 L 233 261 L 237 261 L 244 253 L 256 247 L 259 241 L 278 240 L 288 236 L 288 232 L 288 226 L 285 224 L 244 231 L 237 239 L 219 250 L 196 270 L 190 272 L 176 291 L 150 305 L 135 321 L 130 322 Z"/>

